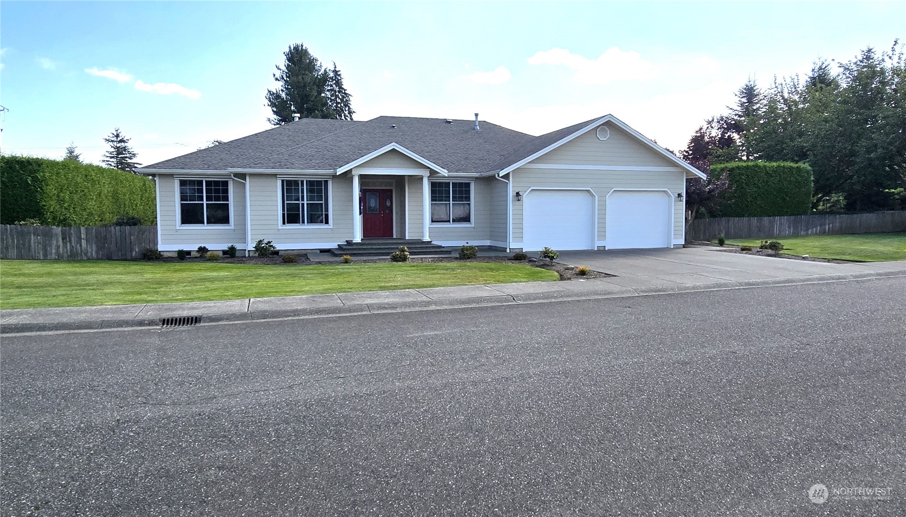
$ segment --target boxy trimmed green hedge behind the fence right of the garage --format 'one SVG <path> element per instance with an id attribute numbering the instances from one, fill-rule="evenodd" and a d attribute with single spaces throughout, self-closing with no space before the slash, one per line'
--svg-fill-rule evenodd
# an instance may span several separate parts
<path id="1" fill-rule="evenodd" d="M 812 168 L 790 162 L 733 162 L 711 165 L 711 175 L 728 172 L 730 192 L 718 217 L 805 215 L 812 210 Z"/>

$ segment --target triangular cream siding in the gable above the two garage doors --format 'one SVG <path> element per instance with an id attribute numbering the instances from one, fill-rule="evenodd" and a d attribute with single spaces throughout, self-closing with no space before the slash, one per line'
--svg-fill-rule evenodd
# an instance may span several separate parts
<path id="1" fill-rule="evenodd" d="M 597 131 L 592 129 L 539 156 L 532 163 L 677 167 L 676 163 L 642 144 L 635 136 L 631 136 L 620 127 L 609 123 L 604 126 L 611 132 L 606 140 L 599 140 L 596 136 Z"/>

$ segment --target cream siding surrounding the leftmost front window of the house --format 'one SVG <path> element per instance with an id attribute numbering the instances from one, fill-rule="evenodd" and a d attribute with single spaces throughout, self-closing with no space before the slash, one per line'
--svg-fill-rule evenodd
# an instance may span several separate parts
<path id="1" fill-rule="evenodd" d="M 223 177 L 204 178 L 191 174 L 157 174 L 159 188 L 160 211 L 158 224 L 160 227 L 161 248 L 174 246 L 187 251 L 198 246 L 207 246 L 212 250 L 226 248 L 223 245 L 233 244 L 238 249 L 243 249 L 246 243 L 246 185 L 242 182 L 229 180 L 232 186 L 230 205 L 233 209 L 233 228 L 211 226 L 207 228 L 178 228 L 177 227 L 177 193 L 178 183 L 176 178 L 190 179 L 229 179 Z M 212 247 L 211 245 L 217 245 Z"/>

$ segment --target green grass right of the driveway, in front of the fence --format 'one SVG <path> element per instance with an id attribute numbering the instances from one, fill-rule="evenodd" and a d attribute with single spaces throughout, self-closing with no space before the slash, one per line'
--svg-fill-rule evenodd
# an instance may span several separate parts
<path id="1" fill-rule="evenodd" d="M 856 262 L 906 260 L 906 233 L 852 233 L 775 238 L 784 245 L 781 253 L 835 258 Z M 758 247 L 761 240 L 728 240 L 728 244 Z"/>

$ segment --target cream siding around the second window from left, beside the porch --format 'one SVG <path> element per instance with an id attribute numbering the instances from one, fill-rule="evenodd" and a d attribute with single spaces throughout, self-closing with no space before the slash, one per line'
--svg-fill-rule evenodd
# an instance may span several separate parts
<path id="1" fill-rule="evenodd" d="M 337 244 L 352 239 L 352 176 L 312 177 L 280 175 L 279 178 L 327 179 L 330 181 L 330 227 L 311 225 L 280 228 L 280 193 L 276 174 L 249 174 L 252 207 L 252 242 L 273 240 L 278 248 L 287 244 Z M 318 246 L 320 248 L 320 246 Z M 306 249 L 301 247 L 301 249 Z"/>

